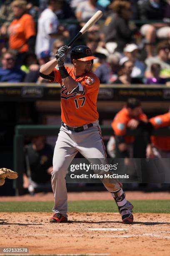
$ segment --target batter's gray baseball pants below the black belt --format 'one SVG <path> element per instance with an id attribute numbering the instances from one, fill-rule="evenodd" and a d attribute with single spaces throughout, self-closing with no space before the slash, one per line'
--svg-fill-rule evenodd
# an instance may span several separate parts
<path id="1" fill-rule="evenodd" d="M 67 188 L 65 176 L 68 166 L 77 152 L 80 152 L 86 159 L 106 159 L 105 147 L 98 121 L 93 126 L 82 131 L 70 131 L 61 126 L 60 133 L 55 145 L 53 156 L 52 190 L 55 204 L 53 212 L 61 213 L 67 218 Z M 114 183 L 105 183 L 109 192 L 117 192 L 122 184 L 115 179 Z"/>

